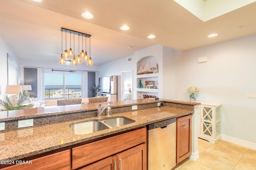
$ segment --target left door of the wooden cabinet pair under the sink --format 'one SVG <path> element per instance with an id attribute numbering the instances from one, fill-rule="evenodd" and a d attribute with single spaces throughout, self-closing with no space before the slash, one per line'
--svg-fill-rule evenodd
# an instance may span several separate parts
<path id="1" fill-rule="evenodd" d="M 80 170 L 116 170 L 116 155 L 100 160 Z"/>

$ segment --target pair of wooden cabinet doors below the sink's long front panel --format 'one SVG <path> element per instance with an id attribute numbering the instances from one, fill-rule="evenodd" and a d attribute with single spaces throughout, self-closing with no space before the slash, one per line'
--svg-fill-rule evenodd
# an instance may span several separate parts
<path id="1" fill-rule="evenodd" d="M 146 170 L 146 144 L 100 160 L 80 170 Z"/>

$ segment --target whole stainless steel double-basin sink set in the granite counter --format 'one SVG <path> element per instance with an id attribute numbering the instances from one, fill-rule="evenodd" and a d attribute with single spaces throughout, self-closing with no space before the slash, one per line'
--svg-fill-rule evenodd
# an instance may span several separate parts
<path id="1" fill-rule="evenodd" d="M 72 129 L 74 134 L 84 135 L 84 134 L 93 133 L 96 131 L 101 131 L 104 129 L 109 129 L 112 127 L 127 125 L 130 123 L 134 123 L 134 121 L 131 121 L 124 117 L 116 117 L 116 118 L 106 119 L 102 121 L 88 121 L 83 123 L 76 123 L 74 125 L 70 125 L 70 128 Z"/>

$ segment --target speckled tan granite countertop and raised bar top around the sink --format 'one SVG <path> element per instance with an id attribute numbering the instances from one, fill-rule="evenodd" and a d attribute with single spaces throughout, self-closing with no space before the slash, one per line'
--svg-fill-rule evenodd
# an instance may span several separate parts
<path id="1" fill-rule="evenodd" d="M 122 106 L 122 105 L 138 105 L 138 104 L 147 104 L 147 103 L 155 103 L 154 100 L 141 100 L 142 102 L 136 100 L 130 100 L 130 101 L 118 101 L 114 104 L 117 105 L 116 107 Z M 161 102 L 170 102 L 174 105 L 176 104 L 186 104 L 186 106 L 189 105 L 197 105 L 197 103 L 192 104 L 191 102 L 180 102 L 180 101 L 171 101 L 171 100 L 160 100 Z M 159 101 L 158 101 L 159 102 Z M 199 103 L 200 104 L 200 103 Z M 42 108 L 45 111 L 49 111 L 49 114 L 59 114 L 59 113 L 70 113 L 71 111 L 78 111 L 78 109 L 84 109 L 84 111 L 88 111 L 90 109 L 95 109 L 95 107 L 98 106 L 98 104 L 86 104 L 86 105 L 80 105 L 80 106 L 70 106 L 70 107 L 48 107 L 48 108 Z M 79 107 L 79 108 L 78 108 Z M 88 109 L 85 109 L 87 107 Z M 74 109 L 76 108 L 76 109 Z M 54 110 L 50 112 L 50 110 Z M 29 109 L 30 110 L 30 109 Z M 10 112 L 10 111 L 9 111 Z M 43 115 L 46 113 L 43 113 L 41 109 L 38 109 L 38 112 L 31 111 L 32 113 L 26 113 L 26 115 L 22 115 L 21 117 L 27 116 L 38 116 Z M 24 114 L 24 111 L 16 111 L 16 115 L 10 117 L 2 117 L 3 119 L 18 119 L 18 115 Z M 122 125 L 119 127 L 114 127 L 110 129 L 105 129 L 102 131 L 97 131 L 94 133 L 89 133 L 85 135 L 75 135 L 70 125 L 74 123 L 82 123 L 86 121 L 92 121 L 92 120 L 104 120 L 109 119 L 109 117 L 106 117 L 106 115 L 102 116 L 101 119 L 97 119 L 97 117 L 90 117 L 85 119 L 78 119 L 78 120 L 72 120 L 72 121 L 66 121 L 62 123 L 55 123 L 50 125 L 42 125 L 42 126 L 36 126 L 36 127 L 27 127 L 22 128 L 18 130 L 13 131 L 7 131 L 7 132 L 0 132 L 0 160 L 18 160 L 22 158 L 26 158 L 28 156 L 33 156 L 36 154 L 40 154 L 43 152 L 48 152 L 55 149 L 60 149 L 63 147 L 68 147 L 74 144 L 82 143 L 85 141 L 89 141 L 92 139 L 96 139 L 99 137 L 104 137 L 107 135 L 111 135 L 114 133 L 126 131 L 129 129 L 134 129 L 136 127 L 141 127 L 144 125 L 148 125 L 150 123 L 155 123 L 158 121 L 162 121 L 165 119 L 170 119 L 173 117 L 180 117 L 183 115 L 188 115 L 190 113 L 194 113 L 193 109 L 186 109 L 186 108 L 178 108 L 178 107 L 170 107 L 170 106 L 164 106 L 164 107 L 154 107 L 150 109 L 141 109 L 141 110 L 134 110 L 134 111 L 127 111 L 122 113 L 115 113 L 112 114 L 110 118 L 114 117 L 126 117 L 128 119 L 131 119 L 135 121 L 134 123 L 130 123 L 128 125 Z M 46 114 L 47 115 L 47 114 Z M 1 119 L 0 119 L 1 121 Z"/>

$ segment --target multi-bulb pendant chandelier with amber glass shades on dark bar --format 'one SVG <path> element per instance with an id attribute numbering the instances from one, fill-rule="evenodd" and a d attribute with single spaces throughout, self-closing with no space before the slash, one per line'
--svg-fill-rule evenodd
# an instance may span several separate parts
<path id="1" fill-rule="evenodd" d="M 72 65 L 72 66 L 76 66 L 77 64 L 82 64 L 82 59 L 84 59 L 84 61 L 86 61 L 88 66 L 92 66 L 93 65 L 93 61 L 91 57 L 88 57 L 87 55 L 87 43 L 86 43 L 86 38 L 90 38 L 91 35 L 86 34 L 86 33 L 81 33 L 81 32 L 77 32 L 77 31 L 73 31 L 70 29 L 66 29 L 66 28 L 61 28 L 61 51 L 63 50 L 63 31 L 66 32 L 66 49 L 67 49 L 67 32 L 70 33 L 70 51 L 64 50 L 64 52 L 61 54 L 60 59 L 59 59 L 59 63 L 62 65 Z M 78 55 L 76 57 L 75 55 L 75 50 L 72 51 L 71 48 L 71 34 L 74 35 L 74 49 L 75 49 L 75 35 L 78 35 Z M 80 50 L 80 35 L 83 37 L 85 37 L 85 52 L 83 50 L 84 47 L 84 39 L 82 39 L 82 51 L 81 53 L 79 53 Z M 91 41 L 91 39 L 90 39 Z M 91 52 L 91 42 L 90 42 L 90 52 Z M 80 54 L 80 55 L 79 55 Z M 91 55 L 91 53 L 90 53 Z"/>

